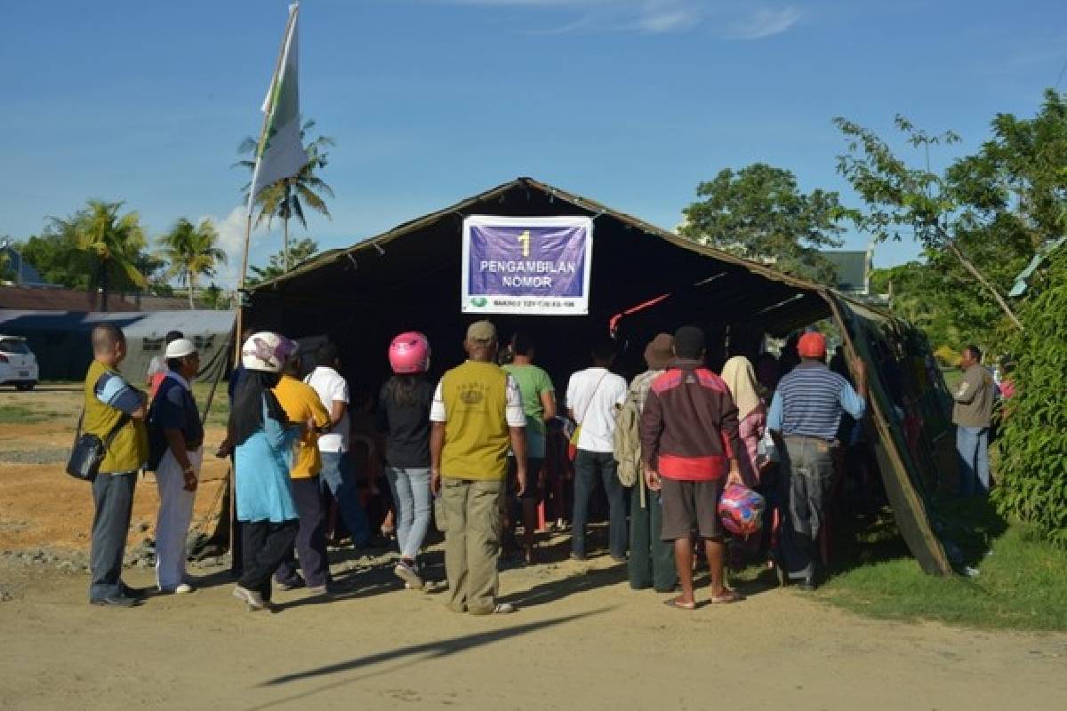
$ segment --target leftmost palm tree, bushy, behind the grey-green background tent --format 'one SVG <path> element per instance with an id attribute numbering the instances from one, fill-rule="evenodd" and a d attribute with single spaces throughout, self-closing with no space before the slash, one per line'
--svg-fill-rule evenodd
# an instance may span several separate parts
<path id="1" fill-rule="evenodd" d="M 89 275 L 89 288 L 100 292 L 100 310 L 108 310 L 112 288 L 143 288 L 146 279 L 138 269 L 145 247 L 144 228 L 137 212 L 120 215 L 123 203 L 89 200 L 66 220 L 51 217 L 51 227 L 69 238 L 75 259 Z"/>

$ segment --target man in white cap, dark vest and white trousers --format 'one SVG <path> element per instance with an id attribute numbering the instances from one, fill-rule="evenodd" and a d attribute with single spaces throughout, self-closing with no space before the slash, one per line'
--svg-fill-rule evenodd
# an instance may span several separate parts
<path id="1" fill-rule="evenodd" d="M 190 387 L 200 354 L 192 341 L 179 338 L 168 343 L 164 358 L 166 375 L 148 414 L 150 449 L 162 452 L 156 465 L 156 583 L 161 593 L 184 594 L 192 592 L 186 581 L 186 537 L 204 457 L 204 426 Z"/>

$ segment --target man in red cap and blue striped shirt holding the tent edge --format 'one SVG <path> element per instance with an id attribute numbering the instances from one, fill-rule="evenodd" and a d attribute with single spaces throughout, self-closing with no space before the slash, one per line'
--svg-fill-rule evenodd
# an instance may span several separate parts
<path id="1" fill-rule="evenodd" d="M 826 367 L 826 338 L 808 333 L 797 344 L 800 365 L 781 379 L 767 415 L 767 427 L 785 441 L 782 462 L 782 529 L 778 539 L 779 575 L 815 589 L 819 526 L 826 520 L 833 476 L 831 448 L 841 416 L 857 421 L 866 409 L 866 371 L 853 361 L 856 388 Z"/>

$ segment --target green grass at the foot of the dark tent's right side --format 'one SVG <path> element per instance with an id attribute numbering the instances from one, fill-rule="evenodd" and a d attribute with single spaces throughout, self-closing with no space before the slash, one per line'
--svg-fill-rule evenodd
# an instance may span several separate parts
<path id="1" fill-rule="evenodd" d="M 1031 530 L 1005 522 L 984 501 L 943 505 L 949 537 L 960 548 L 974 577 L 925 575 L 885 530 L 860 537 L 860 554 L 832 576 L 818 597 L 847 610 L 898 620 L 930 619 L 984 629 L 1067 630 L 1067 551 L 1041 542 Z M 895 543 L 894 543 L 895 542 Z M 865 553 L 865 555 L 864 555 Z M 858 565 L 856 565 L 858 563 Z"/>

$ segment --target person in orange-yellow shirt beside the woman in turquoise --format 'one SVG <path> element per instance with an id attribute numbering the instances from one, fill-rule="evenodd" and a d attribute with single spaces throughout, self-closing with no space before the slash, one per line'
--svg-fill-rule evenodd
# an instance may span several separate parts
<path id="1" fill-rule="evenodd" d="M 282 589 L 292 589 L 307 585 L 312 593 L 327 593 L 330 582 L 330 562 L 327 560 L 325 506 L 319 488 L 319 471 L 322 457 L 319 455 L 319 434 L 330 430 L 330 413 L 322 406 L 315 389 L 293 375 L 300 369 L 299 357 L 286 367 L 282 379 L 274 387 L 274 397 L 285 410 L 290 422 L 305 424 L 304 434 L 297 441 L 289 469 L 292 484 L 292 500 L 300 517 L 297 533 L 297 551 L 300 553 L 300 569 L 292 553 L 282 563 L 274 579 Z"/>

